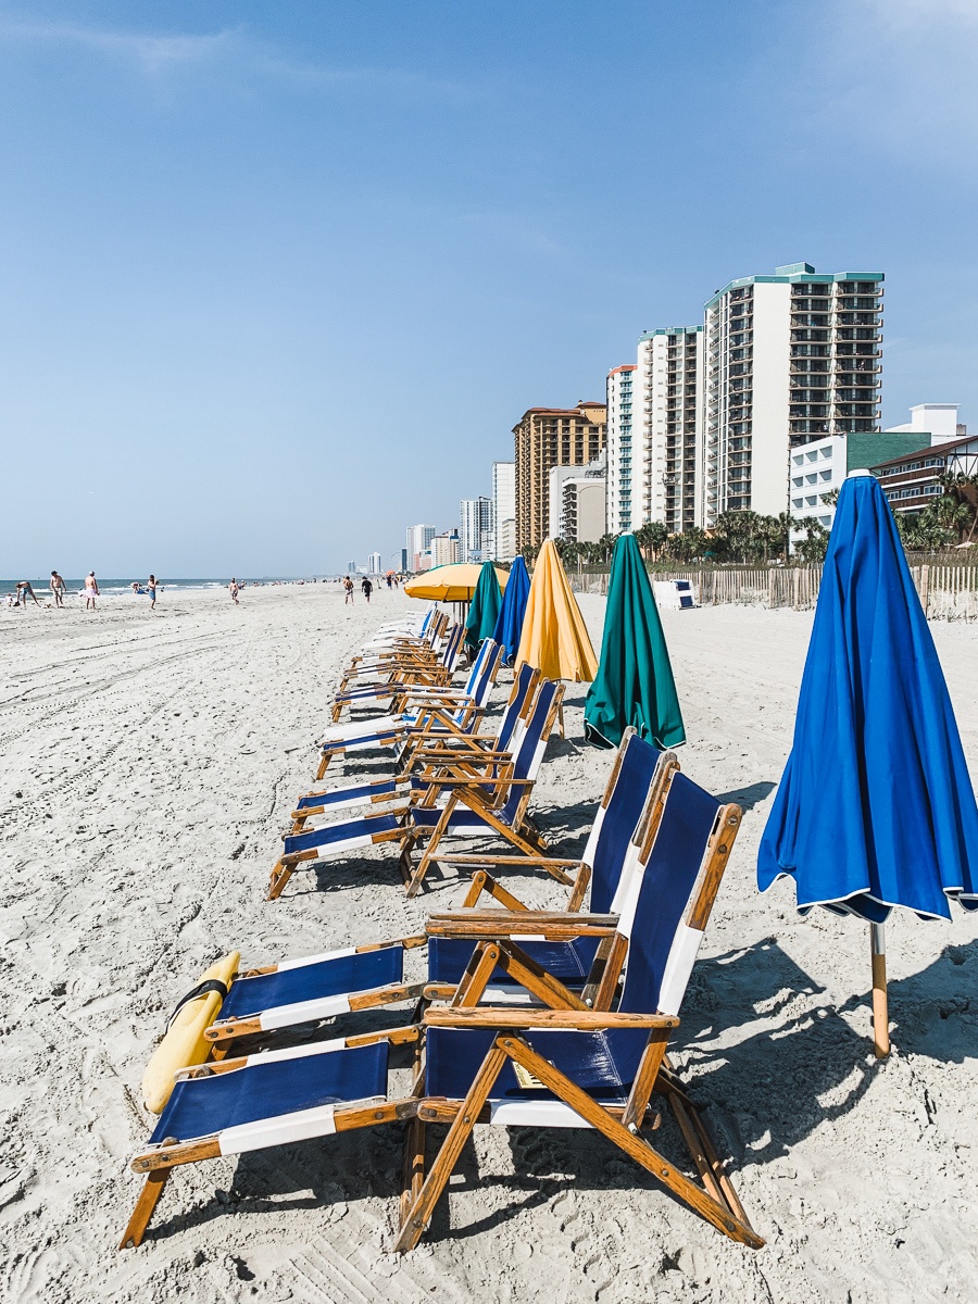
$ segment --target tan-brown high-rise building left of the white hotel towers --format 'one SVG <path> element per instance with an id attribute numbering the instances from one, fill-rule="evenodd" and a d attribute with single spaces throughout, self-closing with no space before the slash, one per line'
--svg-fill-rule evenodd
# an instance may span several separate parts
<path id="1" fill-rule="evenodd" d="M 550 519 L 550 467 L 585 467 L 608 438 L 604 403 L 529 408 L 512 434 L 516 445 L 516 550 L 542 544 Z"/>

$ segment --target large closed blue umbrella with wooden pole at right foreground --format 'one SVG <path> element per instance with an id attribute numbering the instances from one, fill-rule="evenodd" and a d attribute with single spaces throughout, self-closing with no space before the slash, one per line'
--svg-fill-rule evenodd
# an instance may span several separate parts
<path id="1" fill-rule="evenodd" d="M 883 923 L 978 909 L 978 807 L 896 522 L 867 471 L 842 485 L 758 885 L 871 923 L 876 1054 L 889 1050 Z"/>

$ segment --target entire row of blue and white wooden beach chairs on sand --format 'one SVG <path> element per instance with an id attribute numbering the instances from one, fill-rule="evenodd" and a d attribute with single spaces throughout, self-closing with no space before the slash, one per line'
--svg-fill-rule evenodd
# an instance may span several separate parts
<path id="1" fill-rule="evenodd" d="M 189 992 L 173 1026 L 201 1021 L 194 1058 L 167 1082 L 133 1159 L 143 1187 L 123 1247 L 142 1240 L 175 1167 L 398 1125 L 395 1249 L 411 1251 L 477 1124 L 593 1128 L 708 1223 L 763 1244 L 666 1055 L 741 810 L 629 730 L 583 855 L 549 855 L 529 797 L 561 686 L 518 666 L 496 728 L 481 732 L 499 649 L 486 640 L 455 689 L 456 634 L 433 610 L 413 629 L 381 631 L 351 661 L 317 786 L 295 805 L 269 895 L 312 861 L 390 841 L 409 893 L 432 863 L 472 871 L 462 908 L 430 914 L 417 934 L 278 965 L 249 968 L 232 952 L 223 978 Z M 340 722 L 368 703 L 390 709 Z M 389 777 L 323 786 L 338 755 L 366 747 L 394 751 Z M 383 810 L 335 818 L 356 806 Z M 480 849 L 443 850 L 458 838 Z M 528 909 L 501 882 L 514 866 L 561 885 L 553 909 Z M 426 974 L 406 982 L 407 953 L 421 948 Z M 352 1013 L 406 1003 L 383 1030 L 343 1029 Z M 310 1025 L 327 1035 L 295 1045 Z M 404 1067 L 409 1085 L 398 1089 Z M 652 1145 L 653 1095 L 672 1107 L 687 1171 Z M 430 1124 L 447 1131 L 429 1163 Z"/>

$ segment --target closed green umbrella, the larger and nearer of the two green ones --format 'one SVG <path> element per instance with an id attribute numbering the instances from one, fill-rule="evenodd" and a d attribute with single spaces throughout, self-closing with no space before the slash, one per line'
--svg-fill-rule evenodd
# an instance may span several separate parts
<path id="1" fill-rule="evenodd" d="M 584 737 L 617 747 L 629 725 L 657 747 L 678 747 L 686 729 L 652 585 L 634 535 L 614 545 L 597 678 L 584 703 Z"/>

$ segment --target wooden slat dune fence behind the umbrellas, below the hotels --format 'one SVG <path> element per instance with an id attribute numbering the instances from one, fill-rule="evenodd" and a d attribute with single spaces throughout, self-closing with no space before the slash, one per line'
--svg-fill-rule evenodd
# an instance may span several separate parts
<path id="1" fill-rule="evenodd" d="M 911 566 L 917 592 L 928 619 L 978 619 L 978 566 Z M 807 612 L 815 606 L 822 582 L 820 566 L 760 566 L 754 570 L 649 571 L 649 579 L 686 579 L 696 606 L 738 602 L 746 606 L 789 606 Z M 608 571 L 571 572 L 578 593 L 608 592 Z"/>

